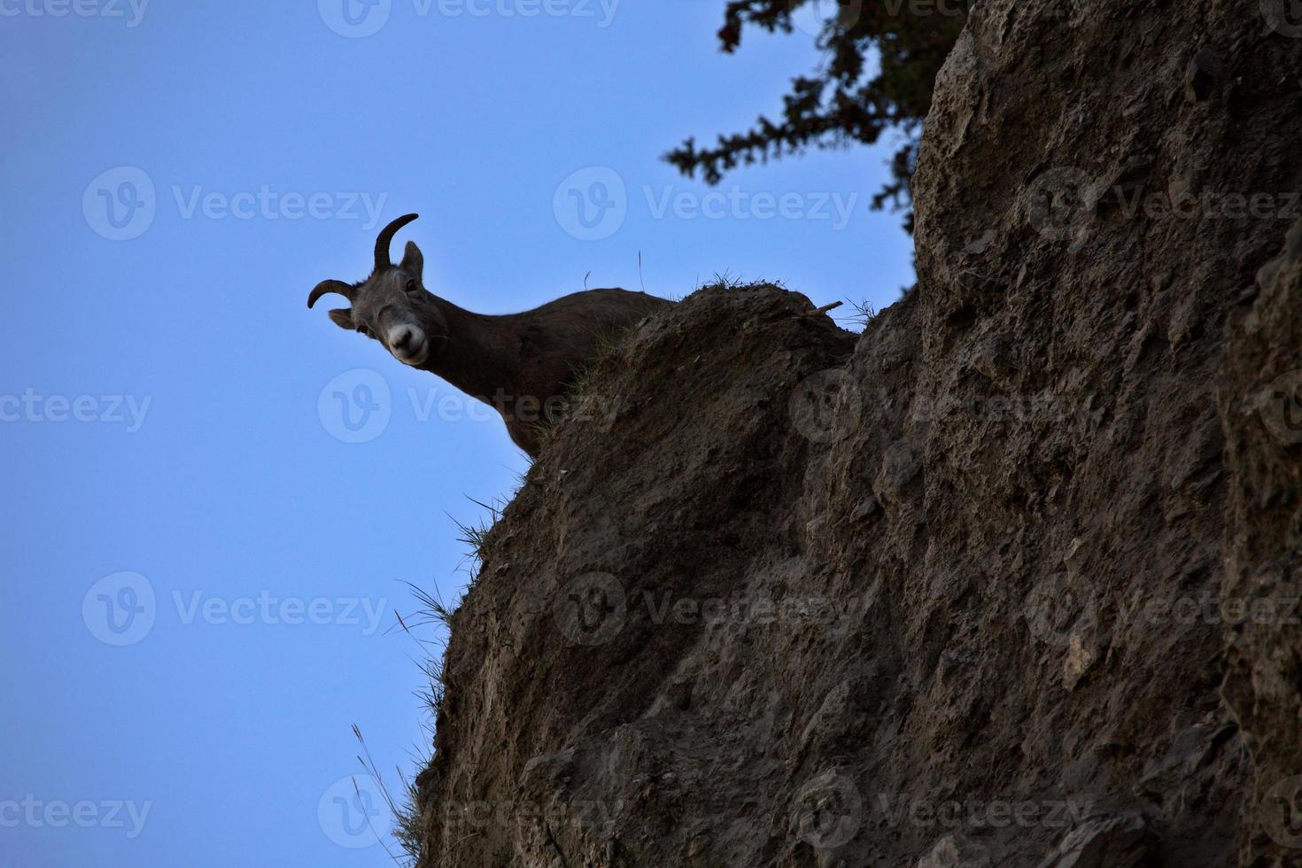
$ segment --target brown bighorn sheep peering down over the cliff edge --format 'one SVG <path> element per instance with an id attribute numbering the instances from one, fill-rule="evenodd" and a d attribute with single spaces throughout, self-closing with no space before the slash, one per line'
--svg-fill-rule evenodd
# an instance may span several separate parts
<path id="1" fill-rule="evenodd" d="M 352 307 L 329 312 L 336 325 L 378 340 L 398 362 L 491 405 L 516 445 L 536 458 L 539 423 L 564 403 L 568 387 L 598 355 L 602 341 L 672 302 L 590 289 L 523 314 L 473 314 L 424 289 L 424 256 L 415 243 L 406 243 L 397 265 L 389 260 L 393 236 L 417 216 L 398 217 L 380 232 L 370 277 L 358 284 L 322 281 L 307 307 L 327 293 L 345 297 Z"/>

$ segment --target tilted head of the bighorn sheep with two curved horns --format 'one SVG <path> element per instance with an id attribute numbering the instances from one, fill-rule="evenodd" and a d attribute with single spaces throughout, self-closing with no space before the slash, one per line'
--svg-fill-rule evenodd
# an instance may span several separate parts
<path id="1" fill-rule="evenodd" d="M 417 216 L 398 217 L 380 230 L 370 277 L 358 284 L 323 280 L 307 297 L 307 307 L 329 293 L 346 298 L 350 307 L 329 312 L 335 324 L 379 341 L 393 358 L 411 367 L 428 364 L 448 342 L 447 319 L 422 284 L 424 256 L 421 249 L 409 241 L 402 262 L 395 265 L 389 260 L 393 236 Z"/>

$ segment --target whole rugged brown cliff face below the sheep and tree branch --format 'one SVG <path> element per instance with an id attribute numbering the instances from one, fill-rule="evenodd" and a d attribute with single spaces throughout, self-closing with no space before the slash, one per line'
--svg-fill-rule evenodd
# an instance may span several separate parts
<path id="1" fill-rule="evenodd" d="M 452 618 L 421 865 L 1302 864 L 1288 16 L 978 4 L 913 293 L 605 358 Z"/>

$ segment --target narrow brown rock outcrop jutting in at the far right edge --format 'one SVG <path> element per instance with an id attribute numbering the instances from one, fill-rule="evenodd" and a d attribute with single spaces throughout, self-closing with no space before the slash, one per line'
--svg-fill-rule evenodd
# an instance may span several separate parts
<path id="1" fill-rule="evenodd" d="M 1247 852 L 1302 861 L 1302 221 L 1237 297 L 1220 380 L 1230 479 L 1223 695 L 1253 756 Z"/>

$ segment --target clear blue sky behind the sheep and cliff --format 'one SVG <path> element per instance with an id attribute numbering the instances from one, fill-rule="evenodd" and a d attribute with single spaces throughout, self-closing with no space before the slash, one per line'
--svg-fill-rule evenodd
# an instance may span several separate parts
<path id="1" fill-rule="evenodd" d="M 888 144 L 715 189 L 659 160 L 776 112 L 811 35 L 727 57 L 723 0 L 368 1 L 0 0 L 4 868 L 388 864 L 352 725 L 397 789 L 430 649 L 393 612 L 457 596 L 453 518 L 527 459 L 306 308 L 383 223 L 419 212 L 395 250 L 484 312 L 585 275 L 911 282 L 868 210 Z"/>

